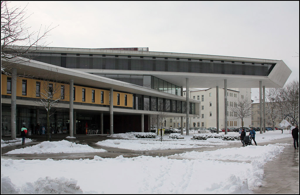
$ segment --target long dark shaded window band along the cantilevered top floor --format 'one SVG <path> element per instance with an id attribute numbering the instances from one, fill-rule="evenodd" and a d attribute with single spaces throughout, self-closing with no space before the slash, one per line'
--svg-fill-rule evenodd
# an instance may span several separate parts
<path id="1" fill-rule="evenodd" d="M 275 64 L 105 54 L 35 53 L 32 59 L 65 68 L 268 76 Z M 148 57 L 148 56 L 147 56 Z"/>

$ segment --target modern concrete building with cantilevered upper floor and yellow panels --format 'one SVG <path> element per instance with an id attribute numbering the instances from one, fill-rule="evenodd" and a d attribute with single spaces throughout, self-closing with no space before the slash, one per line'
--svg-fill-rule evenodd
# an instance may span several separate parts
<path id="1" fill-rule="evenodd" d="M 148 48 L 14 49 L 28 51 L 1 58 L 1 135 L 19 135 L 23 125 L 36 133 L 37 123 L 46 127 L 47 109 L 52 133 L 149 132 L 150 117 L 159 124 L 162 115 L 182 125 L 201 114 L 201 102 L 183 96 L 185 89 L 283 87 L 291 73 L 281 60 Z M 49 94 L 56 104 L 46 108 L 41 100 Z"/>

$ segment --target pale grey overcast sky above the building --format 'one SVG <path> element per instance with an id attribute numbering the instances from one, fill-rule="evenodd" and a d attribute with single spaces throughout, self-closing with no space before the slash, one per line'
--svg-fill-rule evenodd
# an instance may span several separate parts
<path id="1" fill-rule="evenodd" d="M 57 26 L 48 46 L 283 60 L 299 78 L 299 1 L 12 1 L 32 30 Z M 297 52 L 297 53 L 296 53 Z M 259 85 L 259 84 L 257 84 Z M 199 86 L 201 87 L 201 86 Z M 253 94 L 256 94 L 253 89 Z"/>

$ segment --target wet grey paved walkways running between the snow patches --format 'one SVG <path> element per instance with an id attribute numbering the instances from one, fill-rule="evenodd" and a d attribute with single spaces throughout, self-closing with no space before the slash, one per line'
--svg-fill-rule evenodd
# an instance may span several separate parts
<path id="1" fill-rule="evenodd" d="M 111 147 L 99 146 L 95 143 L 106 139 L 120 139 L 111 138 L 107 135 L 84 135 L 76 134 L 76 139 L 66 138 L 66 134 L 52 134 L 52 141 L 68 140 L 80 144 L 88 144 L 89 146 L 96 149 L 105 149 L 107 152 L 93 152 L 93 153 L 61 153 L 61 154 L 5 154 L 13 149 L 18 149 L 26 146 L 32 146 L 43 141 L 46 141 L 45 136 L 32 135 L 28 136 L 33 142 L 25 143 L 25 146 L 15 145 L 6 146 L 1 148 L 1 158 L 4 159 L 40 159 L 46 160 L 52 158 L 54 160 L 62 159 L 93 159 L 95 155 L 102 158 L 115 158 L 119 155 L 123 157 L 135 157 L 140 155 L 149 156 L 169 156 L 173 154 L 183 153 L 187 151 L 209 151 L 220 148 L 232 148 L 240 147 L 241 143 L 230 143 L 229 145 L 219 145 L 214 147 L 201 147 L 201 148 L 190 148 L 190 149 L 169 149 L 169 150 L 152 150 L 152 151 L 134 151 L 128 149 L 118 149 Z M 10 140 L 10 136 L 1 136 L 2 140 Z M 289 143 L 285 145 L 283 152 L 264 165 L 264 178 L 262 180 L 261 187 L 253 188 L 254 194 L 299 194 L 299 149 L 294 149 L 292 145 L 292 138 L 283 138 L 279 140 L 267 141 L 263 143 L 257 143 L 257 145 L 267 145 L 274 143 Z"/>

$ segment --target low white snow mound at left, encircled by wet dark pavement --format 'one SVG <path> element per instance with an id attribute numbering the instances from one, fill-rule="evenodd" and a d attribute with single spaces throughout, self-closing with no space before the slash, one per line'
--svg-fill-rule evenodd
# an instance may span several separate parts
<path id="1" fill-rule="evenodd" d="M 106 152 L 104 149 L 94 149 L 88 145 L 76 144 L 67 140 L 44 141 L 34 146 L 15 149 L 6 154 L 44 154 L 44 153 L 81 153 Z"/>

